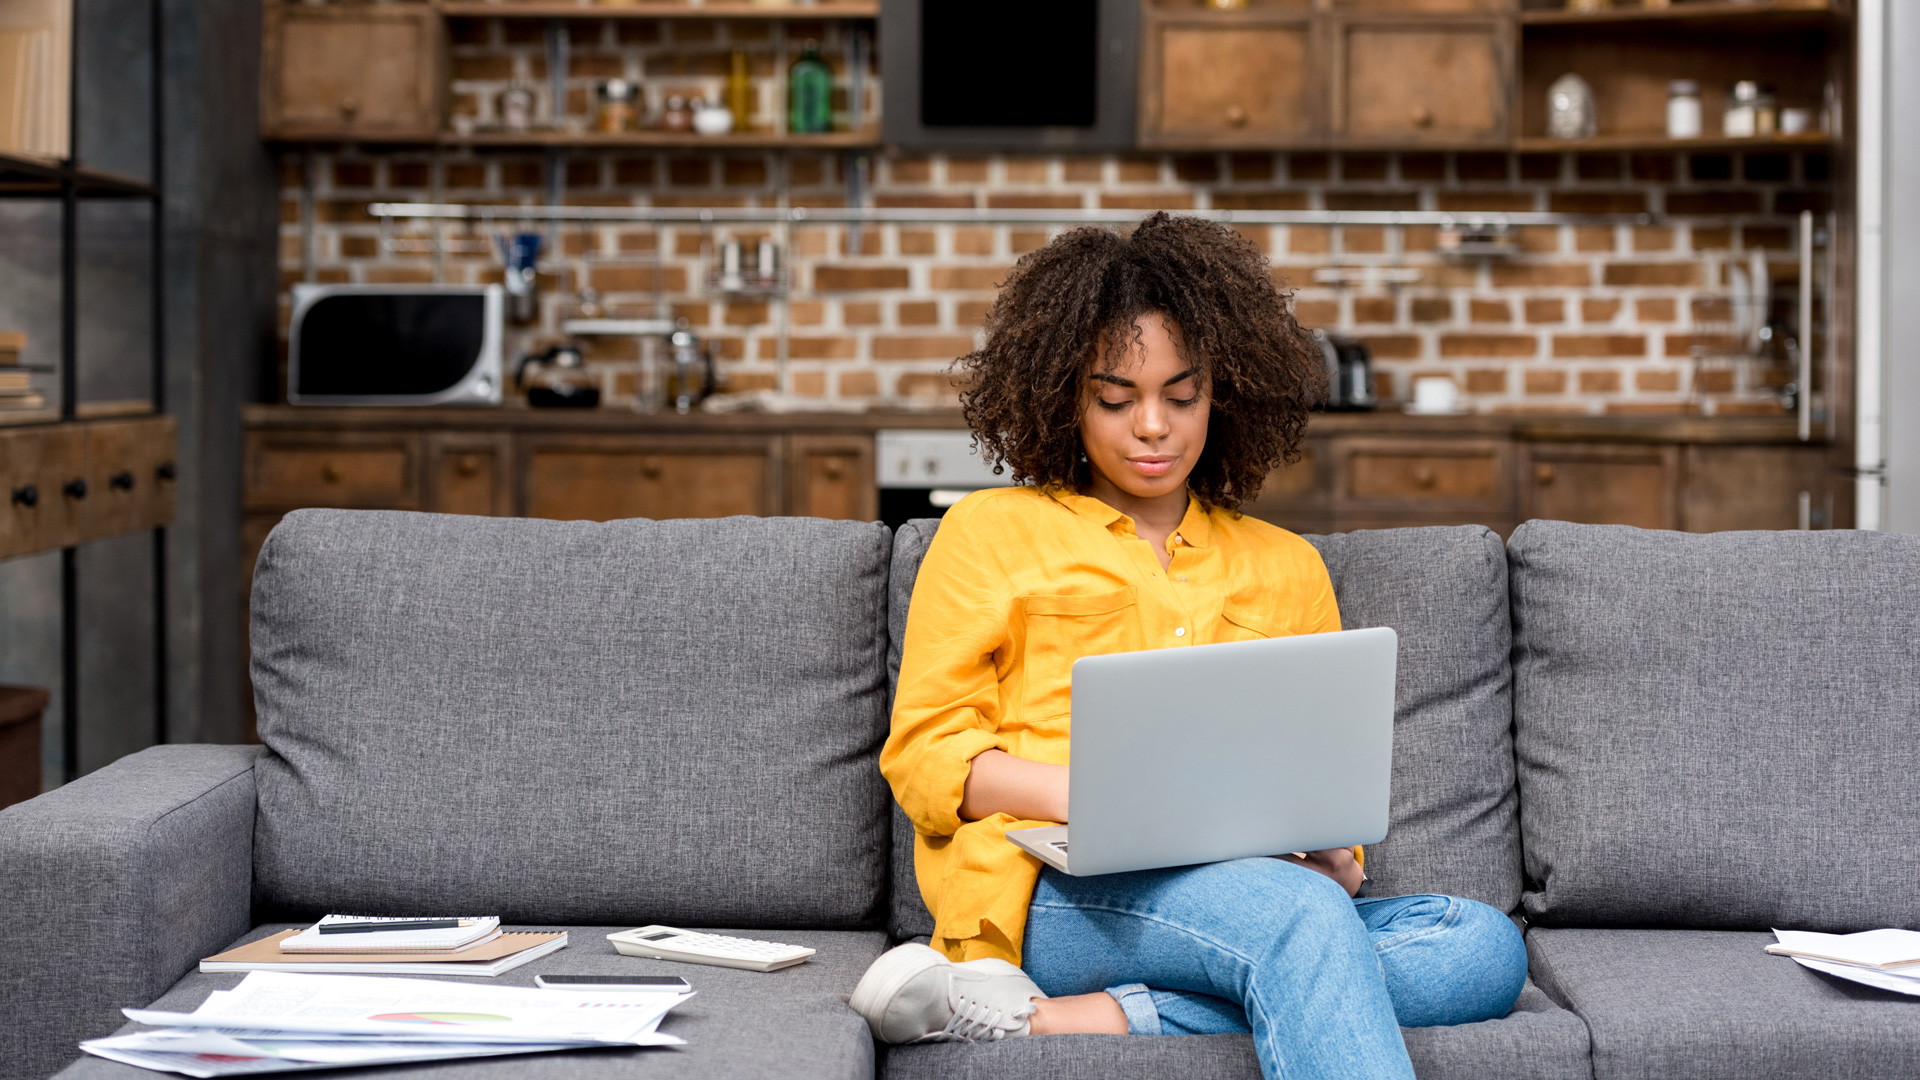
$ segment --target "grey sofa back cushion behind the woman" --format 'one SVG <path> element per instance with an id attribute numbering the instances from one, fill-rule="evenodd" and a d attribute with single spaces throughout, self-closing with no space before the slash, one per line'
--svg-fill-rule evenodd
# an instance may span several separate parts
<path id="1" fill-rule="evenodd" d="M 914 575 L 939 521 L 906 523 L 893 544 L 891 673 Z M 1478 525 L 1306 536 L 1332 578 L 1348 628 L 1400 634 L 1394 782 L 1386 840 L 1367 847 L 1373 896 L 1438 892 L 1513 911 L 1521 840 L 1513 794 L 1507 559 Z M 912 832 L 895 807 L 893 920 L 933 932 L 914 884 Z"/>

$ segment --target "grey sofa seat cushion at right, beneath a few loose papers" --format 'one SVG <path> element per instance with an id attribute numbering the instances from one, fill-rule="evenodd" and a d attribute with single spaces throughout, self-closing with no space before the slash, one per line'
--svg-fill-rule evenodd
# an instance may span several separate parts
<path id="1" fill-rule="evenodd" d="M 1734 930 L 1532 930 L 1534 978 L 1594 1038 L 1594 1080 L 1912 1080 L 1920 999 Z"/>

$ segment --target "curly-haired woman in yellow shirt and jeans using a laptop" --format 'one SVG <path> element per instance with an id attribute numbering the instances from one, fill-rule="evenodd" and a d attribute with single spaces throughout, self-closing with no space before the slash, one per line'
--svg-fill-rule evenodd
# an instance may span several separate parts
<path id="1" fill-rule="evenodd" d="M 1513 922 L 1356 899 L 1359 849 L 1073 878 L 1004 840 L 1068 821 L 1077 657 L 1340 628 L 1319 553 L 1235 513 L 1298 459 L 1319 365 L 1219 225 L 1079 229 L 1014 269 L 960 367 L 1020 486 L 968 496 L 927 548 L 879 759 L 935 930 L 854 990 L 876 1038 L 1250 1032 L 1269 1078 L 1411 1076 L 1402 1024 L 1513 1007 Z"/>

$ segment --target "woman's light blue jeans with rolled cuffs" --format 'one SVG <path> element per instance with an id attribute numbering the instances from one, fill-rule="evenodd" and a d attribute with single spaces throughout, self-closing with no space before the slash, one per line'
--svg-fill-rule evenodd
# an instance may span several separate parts
<path id="1" fill-rule="evenodd" d="M 1505 1017 L 1526 945 L 1450 896 L 1350 899 L 1279 859 L 1073 878 L 1043 871 L 1025 969 L 1106 990 L 1133 1034 L 1250 1032 L 1267 1080 L 1411 1078 L 1400 1028 Z"/>

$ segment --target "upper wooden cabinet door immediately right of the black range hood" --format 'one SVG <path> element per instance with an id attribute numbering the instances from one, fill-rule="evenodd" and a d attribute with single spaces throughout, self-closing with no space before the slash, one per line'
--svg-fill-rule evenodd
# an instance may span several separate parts
<path id="1" fill-rule="evenodd" d="M 1292 146 L 1325 133 L 1308 17 L 1148 17 L 1142 146 Z"/>

